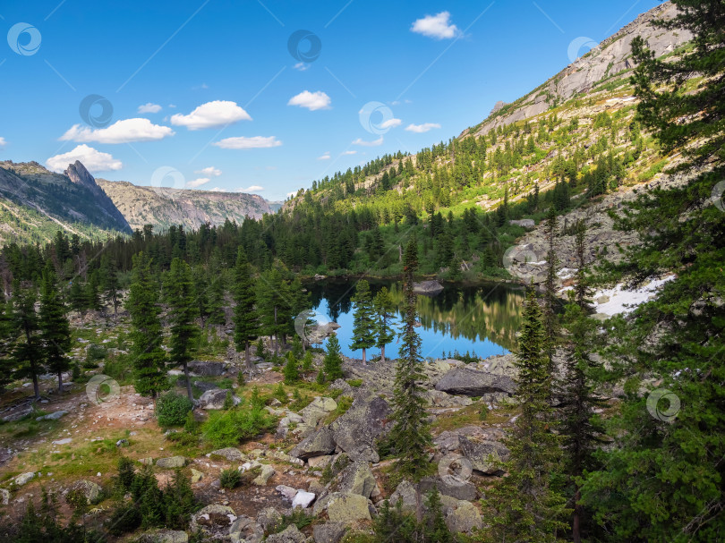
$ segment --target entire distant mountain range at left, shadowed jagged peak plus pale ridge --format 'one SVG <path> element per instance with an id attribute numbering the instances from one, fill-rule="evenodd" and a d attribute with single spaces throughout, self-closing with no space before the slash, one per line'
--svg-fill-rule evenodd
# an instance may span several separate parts
<path id="1" fill-rule="evenodd" d="M 240 192 L 141 187 L 95 179 L 81 162 L 63 174 L 37 162 L 0 161 L 0 243 L 47 242 L 57 230 L 99 239 L 143 225 L 195 229 L 274 213 L 281 202 Z"/>

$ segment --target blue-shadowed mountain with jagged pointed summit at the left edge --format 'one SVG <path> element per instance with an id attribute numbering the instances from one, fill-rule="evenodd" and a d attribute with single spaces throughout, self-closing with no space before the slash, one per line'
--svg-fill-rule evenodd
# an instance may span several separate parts
<path id="1" fill-rule="evenodd" d="M 80 162 L 64 174 L 37 162 L 0 162 L 0 242 L 46 242 L 58 229 L 83 238 L 131 233 Z"/>

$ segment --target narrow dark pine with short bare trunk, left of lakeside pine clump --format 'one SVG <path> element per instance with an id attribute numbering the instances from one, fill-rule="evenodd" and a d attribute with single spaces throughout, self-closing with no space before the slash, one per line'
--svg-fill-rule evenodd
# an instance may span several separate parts
<path id="1" fill-rule="evenodd" d="M 235 344 L 236 350 L 244 350 L 244 361 L 252 375 L 252 359 L 250 358 L 250 342 L 260 334 L 260 317 L 255 306 L 254 283 L 252 270 L 247 262 L 247 255 L 240 247 L 236 255 L 235 283 L 233 288 L 235 299 Z"/>

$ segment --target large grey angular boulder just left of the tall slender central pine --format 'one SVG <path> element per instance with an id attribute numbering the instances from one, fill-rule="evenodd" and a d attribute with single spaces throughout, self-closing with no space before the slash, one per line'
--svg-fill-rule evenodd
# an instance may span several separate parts
<path id="1" fill-rule="evenodd" d="M 333 439 L 354 461 L 379 462 L 376 441 L 388 429 L 390 414 L 388 402 L 378 396 L 357 398 L 330 425 Z"/>

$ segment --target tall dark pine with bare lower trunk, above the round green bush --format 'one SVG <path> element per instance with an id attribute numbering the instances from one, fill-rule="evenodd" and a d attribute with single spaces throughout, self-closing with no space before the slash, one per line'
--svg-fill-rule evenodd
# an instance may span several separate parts
<path id="1" fill-rule="evenodd" d="M 172 364 L 182 366 L 183 376 L 186 379 L 186 394 L 189 400 L 193 401 L 188 363 L 193 360 L 192 345 L 199 337 L 199 327 L 194 322 L 197 308 L 194 303 L 192 268 L 182 259 L 175 258 L 171 261 L 171 269 L 165 279 L 164 293 L 168 304 L 168 319 L 171 323 L 169 357 Z"/>

